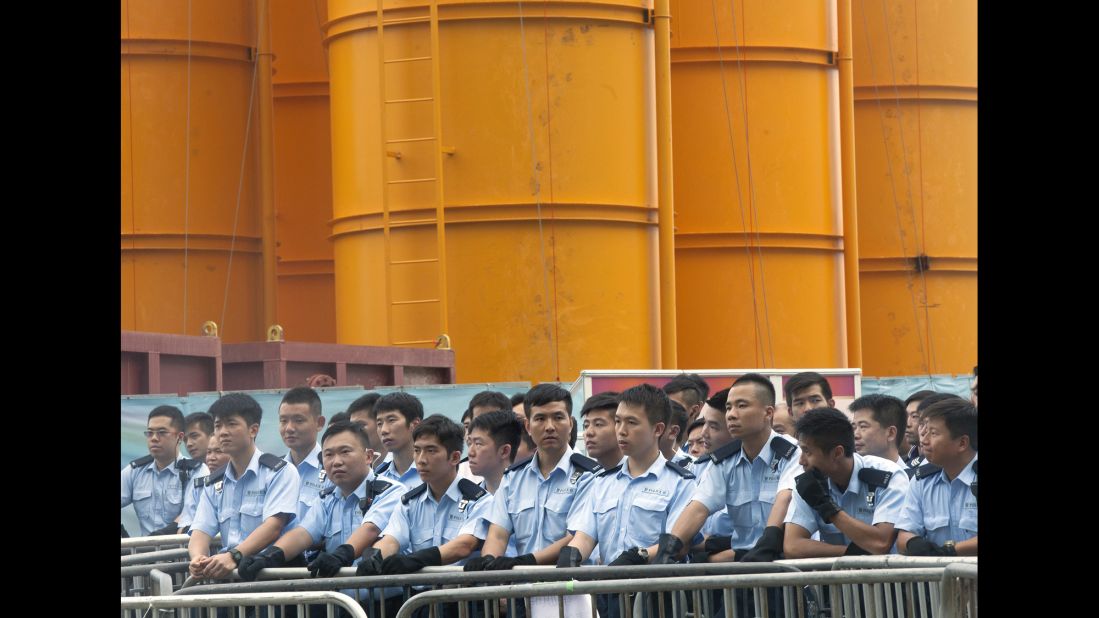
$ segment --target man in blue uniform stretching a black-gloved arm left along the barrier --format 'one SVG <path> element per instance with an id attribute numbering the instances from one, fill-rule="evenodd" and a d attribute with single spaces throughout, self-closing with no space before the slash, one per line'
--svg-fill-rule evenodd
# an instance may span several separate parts
<path id="1" fill-rule="evenodd" d="M 335 422 L 324 431 L 324 472 L 333 485 L 321 490 L 321 501 L 309 509 L 297 526 L 254 556 L 245 556 L 237 567 L 241 578 L 251 582 L 263 569 L 285 566 L 314 543 L 324 542 L 325 551 L 309 563 L 313 576 L 335 576 L 342 566 L 351 566 L 362 553 L 347 543 L 360 526 L 373 537 L 381 532 L 400 503 L 406 488 L 400 483 L 375 477 L 366 428 L 349 421 Z"/>

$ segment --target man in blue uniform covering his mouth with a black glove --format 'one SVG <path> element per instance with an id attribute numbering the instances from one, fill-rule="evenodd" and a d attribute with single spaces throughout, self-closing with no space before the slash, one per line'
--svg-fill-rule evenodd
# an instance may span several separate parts
<path id="1" fill-rule="evenodd" d="M 851 421 L 834 408 L 804 412 L 797 431 L 806 472 L 786 515 L 786 558 L 889 553 L 908 493 L 903 468 L 856 453 Z M 820 541 L 810 539 L 813 532 Z"/>

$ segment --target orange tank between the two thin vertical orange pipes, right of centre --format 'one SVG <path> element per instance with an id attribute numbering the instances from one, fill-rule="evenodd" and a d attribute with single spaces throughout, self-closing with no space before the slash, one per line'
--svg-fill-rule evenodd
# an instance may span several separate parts
<path id="1" fill-rule="evenodd" d="M 834 3 L 671 10 L 679 365 L 846 366 Z"/>

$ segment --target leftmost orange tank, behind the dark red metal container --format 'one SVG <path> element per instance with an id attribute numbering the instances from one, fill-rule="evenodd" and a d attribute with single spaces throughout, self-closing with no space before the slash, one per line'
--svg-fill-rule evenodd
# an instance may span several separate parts
<path id="1" fill-rule="evenodd" d="M 122 329 L 212 320 L 225 341 L 258 340 L 254 8 L 123 0 L 121 16 Z"/>

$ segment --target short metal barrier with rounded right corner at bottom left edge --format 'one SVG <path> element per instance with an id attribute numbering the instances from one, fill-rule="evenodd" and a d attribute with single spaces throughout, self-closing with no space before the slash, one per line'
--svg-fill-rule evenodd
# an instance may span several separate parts
<path id="1" fill-rule="evenodd" d="M 357 603 L 340 593 L 267 593 L 263 595 L 196 595 L 196 596 L 138 596 L 122 599 L 123 618 L 145 618 L 164 616 L 167 609 L 197 609 L 225 607 L 234 608 L 235 616 L 244 616 L 254 608 L 255 615 L 267 608 L 267 616 L 275 616 L 275 608 L 297 607 L 298 616 L 310 616 L 308 607 L 323 606 L 328 618 L 334 618 L 336 610 L 346 611 L 352 618 L 367 618 Z M 184 616 L 190 613 L 184 613 Z M 207 616 L 213 613 L 208 609 Z M 285 614 L 284 614 L 285 615 Z"/>

